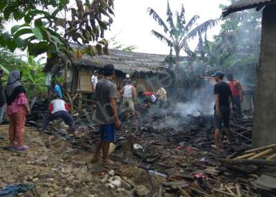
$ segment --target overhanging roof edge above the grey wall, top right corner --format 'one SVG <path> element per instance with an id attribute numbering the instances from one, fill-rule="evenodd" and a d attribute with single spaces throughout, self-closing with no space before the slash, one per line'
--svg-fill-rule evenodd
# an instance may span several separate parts
<path id="1" fill-rule="evenodd" d="M 265 6 L 268 3 L 276 3 L 276 0 L 240 0 L 228 6 L 224 12 L 222 12 L 222 15 L 226 17 L 232 12 L 257 8 L 259 6 Z"/>

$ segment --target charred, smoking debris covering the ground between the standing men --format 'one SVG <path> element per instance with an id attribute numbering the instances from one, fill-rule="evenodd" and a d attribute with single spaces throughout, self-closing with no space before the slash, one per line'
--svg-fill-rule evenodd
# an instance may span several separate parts
<path id="1" fill-rule="evenodd" d="M 139 113 L 143 114 L 141 120 L 135 124 L 124 122 L 117 131 L 115 151 L 110 154 L 115 166 L 108 167 L 104 173 L 93 173 L 112 192 L 110 196 L 228 196 L 232 194 L 230 191 L 235 195 L 240 192 L 241 196 L 260 196 L 253 180 L 275 170 L 268 165 L 229 165 L 229 160 L 243 156 L 250 149 L 253 118 L 231 120 L 235 140 L 226 144 L 223 132 L 222 149 L 217 151 L 210 146 L 213 115 L 197 110 L 197 106 L 175 104 L 159 109 L 156 105 Z M 72 135 L 60 121 L 53 122 L 47 134 L 70 142 L 72 151 L 92 153 L 99 140 L 99 126 L 88 124 L 87 115 L 91 114 L 92 110 L 87 109 L 74 117 L 79 122 L 79 136 Z M 46 147 L 55 147 L 57 139 L 46 143 Z M 64 157 L 67 153 L 62 152 Z M 90 167 L 88 173 L 93 170 Z"/>

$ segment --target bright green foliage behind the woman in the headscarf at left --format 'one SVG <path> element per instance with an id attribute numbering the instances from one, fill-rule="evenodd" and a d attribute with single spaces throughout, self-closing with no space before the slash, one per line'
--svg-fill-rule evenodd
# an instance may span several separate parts
<path id="1" fill-rule="evenodd" d="M 46 74 L 42 72 L 43 65 L 34 61 L 34 57 L 28 56 L 28 62 L 25 62 L 18 55 L 10 53 L 8 50 L 0 48 L 0 66 L 3 68 L 3 82 L 7 82 L 8 73 L 12 70 L 22 71 L 22 82 L 26 88 L 28 96 L 41 95 L 47 88 Z"/>

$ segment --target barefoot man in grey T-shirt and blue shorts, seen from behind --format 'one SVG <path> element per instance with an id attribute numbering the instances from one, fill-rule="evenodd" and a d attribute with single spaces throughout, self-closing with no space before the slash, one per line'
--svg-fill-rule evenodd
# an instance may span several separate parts
<path id="1" fill-rule="evenodd" d="M 99 160 L 99 151 L 103 151 L 103 165 L 112 164 L 108 158 L 110 142 L 116 141 L 116 128 L 121 128 L 121 122 L 117 114 L 117 86 L 115 79 L 115 68 L 112 64 L 103 67 L 103 79 L 96 85 L 96 121 L 99 122 L 100 139 L 95 149 L 92 162 Z"/>

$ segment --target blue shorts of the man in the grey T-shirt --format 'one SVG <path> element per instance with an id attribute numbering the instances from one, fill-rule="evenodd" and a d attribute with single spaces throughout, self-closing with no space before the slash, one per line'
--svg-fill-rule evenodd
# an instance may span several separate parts
<path id="1" fill-rule="evenodd" d="M 101 124 L 99 126 L 99 134 L 101 142 L 116 142 L 115 124 Z"/>

